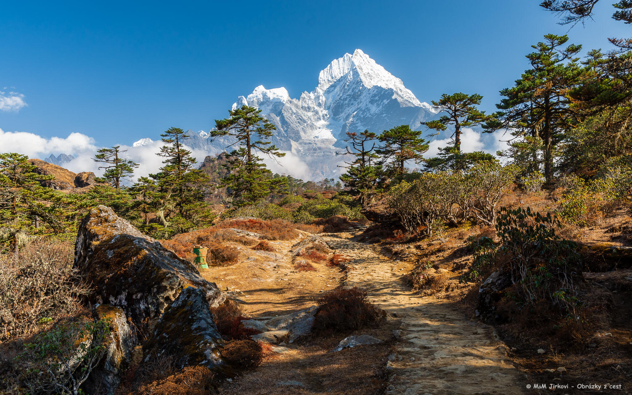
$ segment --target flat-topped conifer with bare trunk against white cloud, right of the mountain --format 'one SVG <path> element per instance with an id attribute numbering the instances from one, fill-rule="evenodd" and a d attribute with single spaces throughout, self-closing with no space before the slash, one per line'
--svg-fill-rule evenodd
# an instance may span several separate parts
<path id="1" fill-rule="evenodd" d="M 454 133 L 451 135 L 453 146 L 440 148 L 438 157 L 428 159 L 426 169 L 466 169 L 476 162 L 494 160 L 493 155 L 482 151 L 461 152 L 461 128 L 481 125 L 493 118 L 477 108 L 482 99 L 482 95 L 458 92 L 452 95 L 443 94 L 439 101 L 432 100 L 435 109 L 445 114 L 434 121 L 422 122 L 422 125 L 437 132 L 445 131 L 449 125 L 454 125 Z"/>

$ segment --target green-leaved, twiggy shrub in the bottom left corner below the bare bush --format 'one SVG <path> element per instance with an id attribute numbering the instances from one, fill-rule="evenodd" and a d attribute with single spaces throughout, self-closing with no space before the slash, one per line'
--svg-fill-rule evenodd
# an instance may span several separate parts
<path id="1" fill-rule="evenodd" d="M 107 351 L 110 320 L 61 322 L 37 334 L 15 358 L 20 386 L 30 394 L 79 394 Z"/>

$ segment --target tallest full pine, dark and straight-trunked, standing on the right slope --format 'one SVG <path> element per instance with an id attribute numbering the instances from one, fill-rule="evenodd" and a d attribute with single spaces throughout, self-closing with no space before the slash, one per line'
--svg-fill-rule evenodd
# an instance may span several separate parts
<path id="1" fill-rule="evenodd" d="M 503 110 L 502 123 L 492 121 L 485 128 L 493 131 L 502 125 L 514 130 L 514 135 L 527 135 L 527 141 L 534 144 L 541 141 L 544 174 L 550 182 L 557 144 L 574 123 L 568 93 L 580 83 L 586 71 L 578 65 L 578 58 L 574 58 L 581 46 L 569 44 L 562 49 L 568 41 L 566 35 L 548 34 L 544 38 L 545 42 L 532 46 L 537 51 L 526 55 L 532 68 L 516 80 L 514 87 L 501 90 L 506 98 L 496 106 Z"/>

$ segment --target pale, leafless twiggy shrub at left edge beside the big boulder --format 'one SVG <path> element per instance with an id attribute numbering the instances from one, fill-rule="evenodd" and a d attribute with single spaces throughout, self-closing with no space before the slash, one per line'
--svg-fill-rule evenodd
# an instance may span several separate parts
<path id="1" fill-rule="evenodd" d="M 41 238 L 18 259 L 0 255 L 0 341 L 29 336 L 82 310 L 80 298 L 89 289 L 73 269 L 74 250 L 68 241 Z"/>

